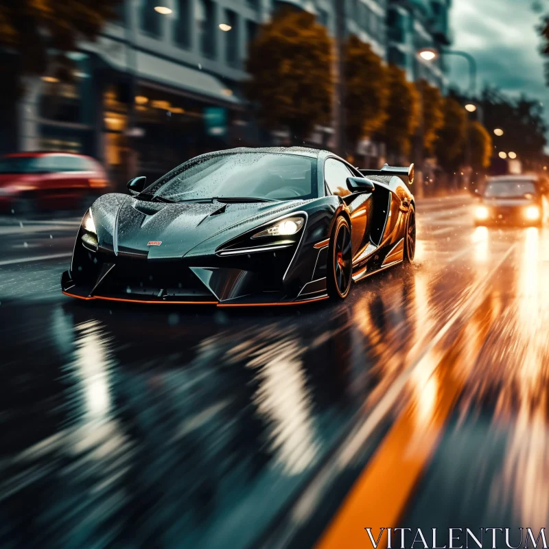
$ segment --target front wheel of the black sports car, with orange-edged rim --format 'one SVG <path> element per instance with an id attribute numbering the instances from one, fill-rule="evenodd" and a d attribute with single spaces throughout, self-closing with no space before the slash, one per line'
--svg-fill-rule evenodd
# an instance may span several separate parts
<path id="1" fill-rule="evenodd" d="M 340 215 L 336 219 L 328 248 L 327 288 L 332 299 L 345 299 L 351 290 L 353 274 L 353 250 L 351 229 Z"/>

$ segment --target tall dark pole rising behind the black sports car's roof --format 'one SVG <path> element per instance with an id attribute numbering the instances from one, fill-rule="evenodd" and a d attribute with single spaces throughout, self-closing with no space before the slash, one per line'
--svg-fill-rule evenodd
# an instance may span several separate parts
<path id="1" fill-rule="evenodd" d="M 345 51 L 344 43 L 347 35 L 347 21 L 345 21 L 346 0 L 334 0 L 334 13 L 336 14 L 336 55 L 334 56 L 334 139 L 336 152 L 342 157 L 347 157 L 345 139 Z"/>

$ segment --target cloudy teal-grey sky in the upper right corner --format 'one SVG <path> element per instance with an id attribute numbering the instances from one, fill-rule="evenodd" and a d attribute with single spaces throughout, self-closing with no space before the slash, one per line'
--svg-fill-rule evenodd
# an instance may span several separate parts
<path id="1" fill-rule="evenodd" d="M 544 103 L 549 120 L 549 88 L 535 31 L 549 0 L 454 0 L 454 49 L 463 49 L 478 62 L 478 89 L 495 84 L 513 94 L 525 92 Z M 466 89 L 467 62 L 449 57 L 452 82 Z"/>

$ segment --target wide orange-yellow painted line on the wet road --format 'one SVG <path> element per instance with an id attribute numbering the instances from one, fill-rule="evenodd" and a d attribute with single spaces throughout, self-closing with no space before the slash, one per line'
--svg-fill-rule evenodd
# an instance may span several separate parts
<path id="1" fill-rule="evenodd" d="M 478 312 L 482 314 L 482 307 Z M 482 331 L 488 331 L 490 324 L 484 316 L 478 324 Z M 425 410 L 422 410 L 424 395 L 411 399 L 320 537 L 316 549 L 364 549 L 371 547 L 364 528 L 371 528 L 373 538 L 377 540 L 380 528 L 398 526 L 465 384 L 461 342 L 463 338 L 454 342 L 428 379 L 427 383 L 434 384 L 436 389 L 430 413 L 425 417 Z M 386 536 L 385 530 L 379 539 L 379 548 L 387 546 Z M 400 533 L 398 536 L 393 533 L 392 541 L 393 547 L 399 547 Z"/>

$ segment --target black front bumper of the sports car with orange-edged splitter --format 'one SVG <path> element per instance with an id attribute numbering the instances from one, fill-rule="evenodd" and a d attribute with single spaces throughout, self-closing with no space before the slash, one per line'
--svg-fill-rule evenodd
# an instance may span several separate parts
<path id="1" fill-rule="evenodd" d="M 79 244 L 77 244 L 78 248 Z M 325 285 L 316 291 L 288 288 L 284 275 L 294 248 L 255 255 L 149 260 L 75 249 L 71 270 L 61 277 L 62 292 L 84 300 L 218 305 L 291 305 L 326 299 Z"/>

